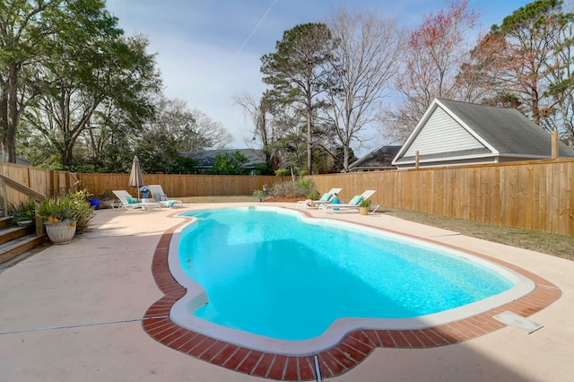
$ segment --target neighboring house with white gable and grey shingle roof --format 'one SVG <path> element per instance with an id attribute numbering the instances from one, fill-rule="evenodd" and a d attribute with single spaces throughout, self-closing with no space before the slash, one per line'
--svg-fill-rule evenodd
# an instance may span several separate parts
<path id="1" fill-rule="evenodd" d="M 561 157 L 574 157 L 559 144 Z M 435 99 L 393 164 L 420 166 L 526 161 L 552 156 L 552 138 L 517 109 Z"/>

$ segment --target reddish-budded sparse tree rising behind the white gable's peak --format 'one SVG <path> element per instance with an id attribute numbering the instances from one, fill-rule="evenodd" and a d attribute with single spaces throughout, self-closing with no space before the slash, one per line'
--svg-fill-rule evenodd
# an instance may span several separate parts
<path id="1" fill-rule="evenodd" d="M 389 137 L 403 141 L 435 98 L 465 98 L 457 74 L 468 60 L 468 35 L 477 19 L 478 14 L 468 10 L 468 0 L 452 0 L 448 10 L 427 14 L 413 30 L 404 50 L 403 69 L 396 76 L 400 100 L 395 109 L 387 110 Z"/>

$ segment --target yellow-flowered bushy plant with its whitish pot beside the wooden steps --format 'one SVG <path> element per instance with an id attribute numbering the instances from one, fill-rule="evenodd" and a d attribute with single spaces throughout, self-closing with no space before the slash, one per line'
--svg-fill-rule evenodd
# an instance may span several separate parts
<path id="1" fill-rule="evenodd" d="M 48 238 L 55 244 L 66 244 L 75 233 L 86 230 L 93 217 L 91 205 L 82 191 L 44 200 L 38 209 Z"/>

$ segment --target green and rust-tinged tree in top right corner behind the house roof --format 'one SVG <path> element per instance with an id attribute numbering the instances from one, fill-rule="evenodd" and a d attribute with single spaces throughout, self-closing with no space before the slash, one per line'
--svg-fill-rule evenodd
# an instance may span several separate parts
<path id="1" fill-rule="evenodd" d="M 483 102 L 520 110 L 574 147 L 572 3 L 536 0 L 493 25 L 461 78 L 481 78 Z"/>

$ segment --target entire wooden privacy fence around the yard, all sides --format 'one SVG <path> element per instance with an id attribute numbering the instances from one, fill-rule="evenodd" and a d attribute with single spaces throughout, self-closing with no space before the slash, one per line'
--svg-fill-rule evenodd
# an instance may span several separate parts
<path id="1" fill-rule="evenodd" d="M 81 180 L 95 195 L 115 189 L 136 194 L 135 188 L 127 185 L 128 174 L 74 174 L 12 163 L 3 163 L 1 169 L 5 176 L 47 196 L 73 187 L 75 180 Z M 366 189 L 375 189 L 377 193 L 371 200 L 382 206 L 574 235 L 574 159 L 309 178 L 314 179 L 321 192 L 342 187 L 340 196 L 347 201 Z M 161 185 L 170 197 L 252 195 L 264 184 L 271 186 L 277 181 L 280 178 L 274 176 L 143 175 L 146 185 Z M 23 200 L 22 195 L 8 187 L 6 198 L 12 204 Z"/>

